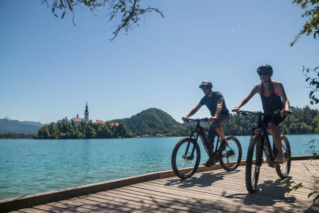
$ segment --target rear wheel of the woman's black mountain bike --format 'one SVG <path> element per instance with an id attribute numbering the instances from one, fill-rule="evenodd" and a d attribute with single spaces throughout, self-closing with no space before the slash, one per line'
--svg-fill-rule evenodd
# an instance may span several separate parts
<path id="1" fill-rule="evenodd" d="M 276 172 L 279 178 L 286 179 L 289 175 L 290 166 L 291 166 L 290 144 L 286 136 L 281 135 L 280 137 L 281 137 L 281 143 L 282 143 L 282 151 L 284 153 L 287 163 L 278 164 L 278 166 L 276 167 Z M 275 150 L 277 154 L 277 149 Z"/>

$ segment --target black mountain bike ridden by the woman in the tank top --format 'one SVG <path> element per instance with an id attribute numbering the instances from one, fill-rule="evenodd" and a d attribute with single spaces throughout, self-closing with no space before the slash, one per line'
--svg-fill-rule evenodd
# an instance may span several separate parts
<path id="1" fill-rule="evenodd" d="M 232 112 L 235 112 L 232 110 Z M 254 194 L 257 187 L 257 182 L 259 178 L 260 167 L 262 166 L 263 161 L 263 152 L 268 161 L 268 166 L 271 168 L 275 168 L 278 176 L 281 179 L 286 179 L 290 172 L 290 165 L 291 165 L 291 151 L 290 151 L 290 144 L 288 138 L 285 135 L 281 135 L 281 141 L 284 142 L 282 144 L 282 148 L 284 151 L 284 157 L 286 158 L 286 163 L 279 163 L 275 162 L 274 159 L 278 155 L 277 148 L 275 143 L 272 144 L 269 141 L 268 137 L 268 126 L 262 121 L 263 115 L 271 115 L 280 116 L 280 110 L 276 110 L 275 112 L 271 113 L 261 113 L 261 112 L 250 112 L 250 111 L 243 111 L 241 110 L 241 114 L 246 116 L 249 114 L 258 116 L 257 125 L 256 127 L 251 128 L 251 137 L 247 151 L 247 158 L 246 158 L 246 188 L 247 191 Z M 292 112 L 288 112 L 288 114 L 292 114 Z M 252 117 L 252 116 L 250 116 Z M 256 147 L 256 152 L 255 152 Z M 255 158 L 254 158 L 255 157 Z M 252 167 L 255 168 L 252 168 Z"/>

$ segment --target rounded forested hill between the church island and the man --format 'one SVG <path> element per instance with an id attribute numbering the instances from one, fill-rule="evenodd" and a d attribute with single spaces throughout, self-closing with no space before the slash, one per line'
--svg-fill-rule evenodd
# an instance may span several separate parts
<path id="1" fill-rule="evenodd" d="M 123 122 L 127 129 L 138 136 L 143 134 L 167 134 L 177 129 L 185 129 L 172 116 L 157 108 L 149 108 L 130 118 L 115 119 L 111 122 Z"/>

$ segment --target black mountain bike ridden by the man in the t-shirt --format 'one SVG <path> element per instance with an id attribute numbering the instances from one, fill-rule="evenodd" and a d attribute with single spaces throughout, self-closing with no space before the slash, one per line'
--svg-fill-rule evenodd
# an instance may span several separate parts
<path id="1" fill-rule="evenodd" d="M 221 140 L 217 132 L 211 132 L 200 125 L 201 121 L 208 122 L 208 118 L 187 118 L 185 121 L 189 123 L 190 121 L 195 121 L 197 124 L 195 128 L 191 125 L 195 130 L 191 131 L 189 137 L 184 137 L 179 140 L 173 149 L 171 163 L 173 171 L 177 177 L 181 179 L 187 179 L 197 171 L 201 157 L 200 148 L 197 143 L 198 137 L 200 137 L 205 151 L 208 154 L 208 157 L 212 160 L 213 165 L 219 161 L 222 168 L 229 172 L 234 171 L 239 166 L 239 163 L 241 162 L 241 144 L 236 137 L 226 137 L 228 146 L 226 147 L 226 150 L 219 151 L 217 147 L 219 142 L 221 143 Z M 214 136 L 218 136 L 215 151 L 213 151 L 213 144 L 208 142 L 204 131 L 211 132 Z M 237 158 L 236 154 L 238 154 Z M 195 162 L 193 162 L 194 159 Z M 229 159 L 232 161 L 229 162 Z M 194 165 L 191 165 L 192 163 L 194 163 Z M 182 168 L 179 169 L 178 166 L 181 166 L 182 164 Z M 211 165 L 209 167 L 211 167 Z"/>

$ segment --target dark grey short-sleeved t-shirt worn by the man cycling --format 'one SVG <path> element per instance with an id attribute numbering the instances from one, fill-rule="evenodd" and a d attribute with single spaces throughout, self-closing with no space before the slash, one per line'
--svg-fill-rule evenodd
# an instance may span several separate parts
<path id="1" fill-rule="evenodd" d="M 223 115 L 230 115 L 229 110 L 226 107 L 225 99 L 224 96 L 221 92 L 219 91 L 214 91 L 213 95 L 211 97 L 208 97 L 205 95 L 199 102 L 201 105 L 206 105 L 206 107 L 209 109 L 211 112 L 211 116 L 214 117 L 216 113 L 216 108 L 217 108 L 217 101 L 219 99 L 223 100 L 222 108 L 220 114 Z"/>

